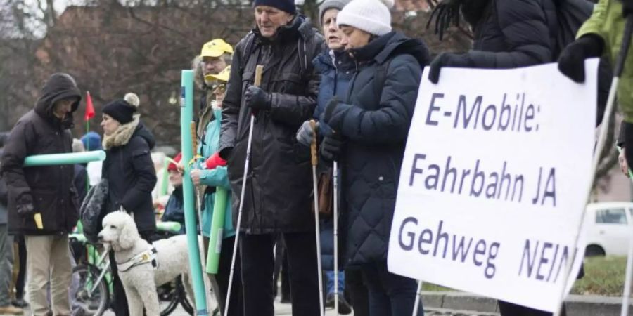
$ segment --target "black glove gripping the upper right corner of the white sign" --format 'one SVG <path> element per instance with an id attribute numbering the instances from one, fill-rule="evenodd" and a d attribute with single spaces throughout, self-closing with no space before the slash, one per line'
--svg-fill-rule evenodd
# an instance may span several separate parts
<path id="1" fill-rule="evenodd" d="M 558 70 L 577 83 L 584 82 L 584 60 L 600 57 L 604 41 L 596 34 L 587 34 L 569 44 L 558 58 Z"/>

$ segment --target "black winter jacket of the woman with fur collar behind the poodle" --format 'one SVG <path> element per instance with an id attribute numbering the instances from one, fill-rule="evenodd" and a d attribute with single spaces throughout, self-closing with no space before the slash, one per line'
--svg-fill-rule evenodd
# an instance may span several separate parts
<path id="1" fill-rule="evenodd" d="M 107 139 L 104 139 L 103 148 L 107 155 L 102 177 L 107 178 L 109 183 L 106 210 L 117 211 L 123 206 L 129 213 L 134 213 L 139 232 L 153 232 L 156 230 L 156 217 L 152 190 L 157 179 L 150 151 L 155 140 L 139 121 L 128 124 L 133 125 L 124 133 L 127 135 L 114 142 L 113 146 L 107 145 Z"/>

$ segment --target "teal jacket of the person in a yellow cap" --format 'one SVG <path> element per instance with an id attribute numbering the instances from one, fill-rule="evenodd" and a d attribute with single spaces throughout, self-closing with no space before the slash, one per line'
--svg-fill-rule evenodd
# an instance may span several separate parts
<path id="1" fill-rule="evenodd" d="M 229 191 L 229 198 L 226 201 L 226 209 L 224 209 L 224 238 L 235 236 L 235 228 L 233 226 L 233 220 L 231 217 L 231 184 L 229 183 L 229 174 L 226 171 L 226 166 L 219 166 L 212 170 L 203 169 L 205 160 L 211 157 L 217 151 L 217 145 L 219 142 L 220 124 L 222 119 L 216 119 L 222 117 L 222 110 L 213 110 L 213 117 L 210 119 L 205 132 L 202 136 L 202 141 L 198 145 L 198 154 L 204 159 L 200 159 L 196 162 L 196 169 L 202 170 L 200 175 L 200 183 L 209 187 L 224 187 Z M 209 237 L 211 232 L 211 220 L 213 218 L 213 205 L 215 203 L 215 192 L 212 194 L 205 194 L 204 209 L 202 213 L 202 233 L 205 237 Z"/>

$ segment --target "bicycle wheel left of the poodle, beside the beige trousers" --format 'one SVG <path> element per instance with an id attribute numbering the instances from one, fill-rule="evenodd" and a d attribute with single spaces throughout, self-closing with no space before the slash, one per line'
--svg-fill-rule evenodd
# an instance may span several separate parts
<path id="1" fill-rule="evenodd" d="M 101 316 L 108 308 L 110 293 L 105 279 L 95 285 L 101 270 L 93 265 L 77 265 L 72 269 L 72 315 Z M 93 291 L 94 289 L 94 291 Z"/>

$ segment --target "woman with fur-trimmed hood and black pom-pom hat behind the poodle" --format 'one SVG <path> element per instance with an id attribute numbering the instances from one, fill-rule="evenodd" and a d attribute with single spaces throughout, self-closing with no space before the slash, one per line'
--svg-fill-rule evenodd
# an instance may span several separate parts
<path id="1" fill-rule="evenodd" d="M 134 213 L 139 234 L 151 242 L 149 239 L 156 230 L 152 206 L 156 173 L 150 151 L 155 140 L 139 120 L 139 103 L 136 94 L 127 93 L 124 99 L 114 100 L 103 107 L 101 127 L 106 161 L 103 162 L 102 177 L 108 179 L 109 184 L 106 211 L 123 208 L 128 213 Z M 113 310 L 117 316 L 129 315 L 113 254 L 110 254 L 110 263 L 115 276 Z"/>

